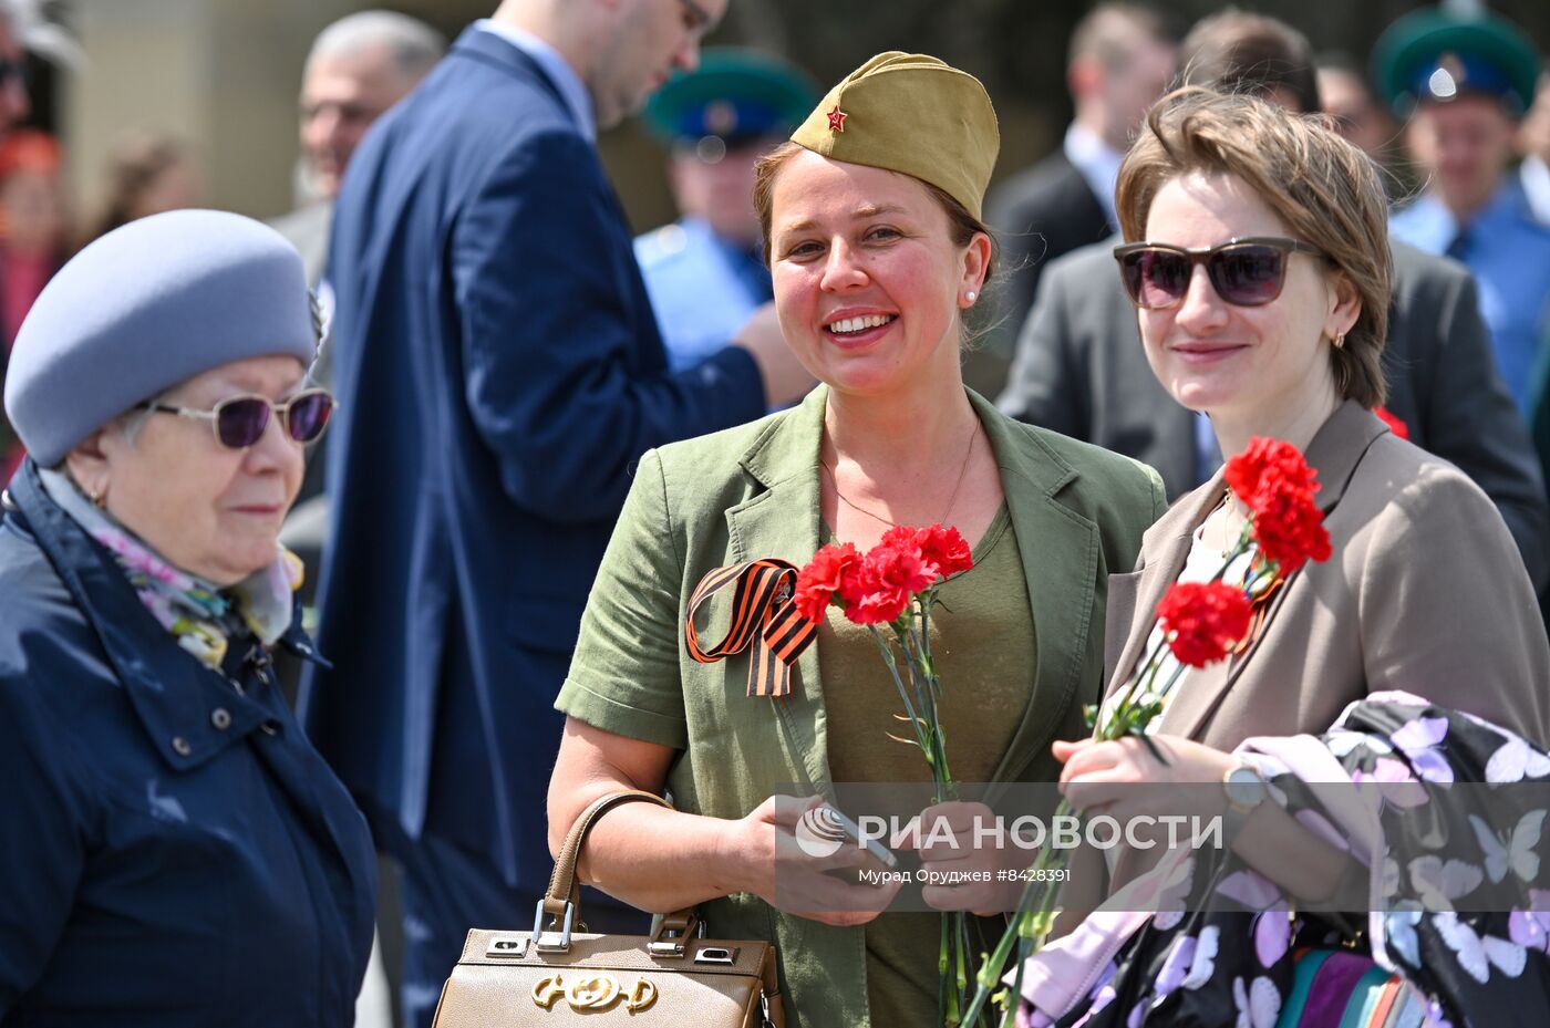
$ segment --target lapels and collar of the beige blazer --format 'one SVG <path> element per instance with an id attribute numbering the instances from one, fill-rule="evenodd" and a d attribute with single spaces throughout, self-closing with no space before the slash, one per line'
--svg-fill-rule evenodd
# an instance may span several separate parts
<path id="1" fill-rule="evenodd" d="M 1314 503 L 1318 503 L 1325 516 L 1335 509 L 1335 505 L 1345 494 L 1345 488 L 1350 485 L 1352 475 L 1356 474 L 1356 466 L 1361 464 L 1361 458 L 1367 454 L 1367 449 L 1387 430 L 1389 427 L 1376 415 L 1356 401 L 1347 399 L 1335 409 L 1335 413 L 1314 433 L 1304 457 L 1318 475 L 1319 491 L 1314 494 Z M 1119 656 L 1114 681 L 1110 683 L 1111 686 L 1124 681 L 1135 670 L 1136 661 L 1141 660 L 1142 649 L 1155 624 L 1153 612 L 1158 602 L 1161 602 L 1162 595 L 1178 581 L 1180 573 L 1184 570 L 1184 560 L 1189 557 L 1195 528 L 1206 520 L 1206 516 L 1226 495 L 1224 472 L 1226 468 L 1218 469 L 1211 481 L 1180 499 L 1147 531 L 1141 543 L 1144 574 L 1138 595 L 1136 616 L 1132 618 L 1130 638 Z M 1266 622 L 1254 641 L 1249 642 L 1248 649 L 1229 660 L 1189 672 L 1187 678 L 1183 680 L 1184 686 L 1162 714 L 1162 731 L 1170 735 L 1190 738 L 1211 718 L 1228 690 L 1243 673 L 1243 669 L 1248 667 L 1260 642 L 1271 632 L 1276 615 L 1286 602 L 1291 587 L 1296 585 L 1296 579 L 1304 571 L 1305 568 L 1293 574 L 1291 581 L 1271 599 Z"/>

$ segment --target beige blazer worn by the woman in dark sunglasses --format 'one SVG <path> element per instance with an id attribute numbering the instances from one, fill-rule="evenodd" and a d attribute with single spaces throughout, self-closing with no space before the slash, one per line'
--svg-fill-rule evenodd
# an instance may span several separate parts
<path id="1" fill-rule="evenodd" d="M 1161 731 L 1232 749 L 1254 735 L 1318 734 L 1369 692 L 1403 689 L 1550 742 L 1550 644 L 1522 557 L 1486 495 L 1457 468 L 1342 404 L 1307 451 L 1333 554 L 1271 601 L 1243 653 L 1180 680 Z M 1221 472 L 1181 497 L 1108 584 L 1105 678 L 1135 669 L 1158 601 Z"/>

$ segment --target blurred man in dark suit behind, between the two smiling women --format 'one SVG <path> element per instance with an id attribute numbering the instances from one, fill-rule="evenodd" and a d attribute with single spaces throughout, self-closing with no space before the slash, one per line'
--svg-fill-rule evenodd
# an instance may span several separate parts
<path id="1" fill-rule="evenodd" d="M 1172 77 L 1173 40 L 1155 11 L 1102 3 L 1077 22 L 1066 59 L 1074 118 L 1060 149 L 986 200 L 1001 265 L 1011 269 L 1000 286 L 1008 344 L 1034 303 L 1045 266 L 1119 231 L 1119 159 Z"/>

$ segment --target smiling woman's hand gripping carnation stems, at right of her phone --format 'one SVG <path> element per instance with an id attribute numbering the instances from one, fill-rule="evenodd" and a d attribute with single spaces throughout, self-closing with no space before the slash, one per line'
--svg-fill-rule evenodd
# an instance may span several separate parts
<path id="1" fill-rule="evenodd" d="M 990 917 L 1017 909 L 1023 886 L 1001 878 L 1009 869 L 1023 870 L 1037 855 L 989 845 L 978 833 L 980 825 L 987 830 L 995 825 L 995 811 L 984 804 L 936 804 L 921 811 L 924 836 L 916 847 L 925 873 L 921 898 L 938 910 Z"/>

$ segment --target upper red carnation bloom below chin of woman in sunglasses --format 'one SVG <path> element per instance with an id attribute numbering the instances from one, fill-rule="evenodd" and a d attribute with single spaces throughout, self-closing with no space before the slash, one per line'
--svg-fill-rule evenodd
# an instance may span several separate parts
<path id="1" fill-rule="evenodd" d="M 1252 438 L 1248 449 L 1228 461 L 1224 478 L 1249 508 L 1260 554 L 1274 560 L 1282 576 L 1305 560 L 1330 557 L 1330 533 L 1313 502 L 1319 483 L 1296 446 Z"/>

